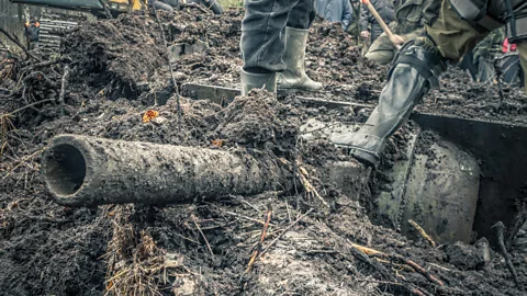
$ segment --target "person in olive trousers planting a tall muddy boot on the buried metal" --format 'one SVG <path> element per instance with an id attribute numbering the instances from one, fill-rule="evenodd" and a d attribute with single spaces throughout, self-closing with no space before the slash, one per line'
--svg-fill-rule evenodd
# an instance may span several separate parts
<path id="1" fill-rule="evenodd" d="M 439 87 L 438 77 L 447 65 L 459 62 L 492 31 L 507 25 L 507 38 L 516 44 L 522 68 L 527 69 L 527 1 L 433 1 L 425 13 L 425 34 L 405 43 L 395 56 L 379 104 L 366 124 L 356 133 L 330 137 L 366 166 L 377 167 L 386 139 L 428 91 Z"/>

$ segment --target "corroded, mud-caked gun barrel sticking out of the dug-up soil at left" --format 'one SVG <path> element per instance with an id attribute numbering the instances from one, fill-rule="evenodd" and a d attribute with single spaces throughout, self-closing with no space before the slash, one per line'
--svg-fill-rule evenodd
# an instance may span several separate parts
<path id="1" fill-rule="evenodd" d="M 53 198 L 67 206 L 169 204 L 291 186 L 276 157 L 60 135 L 43 155 Z"/>

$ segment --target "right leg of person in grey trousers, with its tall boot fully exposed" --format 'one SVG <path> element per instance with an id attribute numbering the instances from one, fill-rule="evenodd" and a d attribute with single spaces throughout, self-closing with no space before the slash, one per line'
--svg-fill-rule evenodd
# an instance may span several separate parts
<path id="1" fill-rule="evenodd" d="M 285 26 L 285 70 L 278 76 L 278 89 L 318 91 L 322 83 L 305 73 L 305 48 L 311 23 L 315 18 L 314 1 L 300 0 L 289 14 Z"/>

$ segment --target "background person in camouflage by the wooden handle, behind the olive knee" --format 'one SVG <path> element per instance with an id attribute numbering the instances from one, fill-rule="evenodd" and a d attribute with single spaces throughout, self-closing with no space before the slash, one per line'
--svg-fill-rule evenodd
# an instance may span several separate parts
<path id="1" fill-rule="evenodd" d="M 417 37 L 423 33 L 425 23 L 424 10 L 433 0 L 395 0 L 394 11 L 395 21 L 390 24 L 393 34 L 400 36 L 400 43 Z M 421 30 L 421 31 L 419 31 Z M 397 49 L 392 44 L 385 33 L 382 33 L 370 46 L 366 54 L 368 59 L 373 60 L 379 66 L 390 64 Z"/>

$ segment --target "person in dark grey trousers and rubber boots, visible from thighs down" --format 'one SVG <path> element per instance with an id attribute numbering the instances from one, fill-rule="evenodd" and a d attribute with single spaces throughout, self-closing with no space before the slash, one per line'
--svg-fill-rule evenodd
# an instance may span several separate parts
<path id="1" fill-rule="evenodd" d="M 246 0 L 242 21 L 242 94 L 266 88 L 318 91 L 304 58 L 314 0 Z M 277 82 L 278 81 L 278 82 Z"/>

